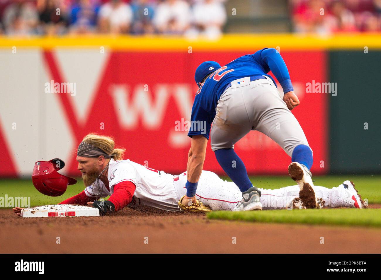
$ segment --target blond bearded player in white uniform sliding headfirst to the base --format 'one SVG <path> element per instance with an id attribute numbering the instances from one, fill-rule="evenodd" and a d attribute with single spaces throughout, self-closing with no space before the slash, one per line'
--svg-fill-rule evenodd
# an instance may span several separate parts
<path id="1" fill-rule="evenodd" d="M 88 134 L 83 138 L 78 147 L 77 161 L 83 182 L 88 187 L 59 204 L 88 204 L 98 208 L 101 215 L 119 211 L 125 206 L 181 211 L 178 201 L 186 193 L 186 172 L 171 175 L 123 160 L 124 149 L 114 149 L 114 146 L 114 140 L 107 136 Z M 43 182 L 44 175 L 39 176 L 37 181 Z M 66 186 L 67 182 L 64 184 L 65 189 Z M 305 208 L 298 198 L 298 186 L 258 190 L 262 193 L 263 209 Z M 332 189 L 315 186 L 315 191 L 319 199 L 325 201 L 325 207 L 365 206 L 354 189 L 354 184 L 349 181 Z M 106 201 L 98 200 L 109 195 Z M 193 211 L 232 211 L 241 200 L 241 192 L 234 182 L 223 181 L 213 172 L 202 171 L 196 197 L 199 205 L 191 208 Z M 13 208 L 18 215 L 21 210 L 22 208 Z"/>

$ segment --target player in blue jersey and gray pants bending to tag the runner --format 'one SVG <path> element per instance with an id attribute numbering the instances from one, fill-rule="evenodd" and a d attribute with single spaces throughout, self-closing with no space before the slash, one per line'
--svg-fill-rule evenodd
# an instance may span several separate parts
<path id="1" fill-rule="evenodd" d="M 267 74 L 270 70 L 283 88 L 283 100 L 274 79 Z M 188 210 L 199 205 L 196 192 L 210 133 L 211 148 L 218 163 L 242 192 L 241 201 L 233 211 L 262 210 L 261 191 L 250 182 L 245 165 L 234 152 L 237 141 L 250 130 L 258 130 L 291 157 L 288 173 L 298 183 L 304 205 L 320 208 L 309 171 L 312 150 L 290 112 L 299 105 L 299 99 L 279 52 L 264 48 L 223 67 L 215 61 L 205 61 L 197 67 L 195 81 L 199 90 L 195 94 L 188 133 L 192 141 L 187 163 L 187 192 L 179 201 L 180 207 Z"/>

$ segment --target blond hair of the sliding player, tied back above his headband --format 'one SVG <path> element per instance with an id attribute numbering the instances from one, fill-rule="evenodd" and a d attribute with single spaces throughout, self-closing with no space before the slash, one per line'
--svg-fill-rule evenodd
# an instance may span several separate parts
<path id="1" fill-rule="evenodd" d="M 115 141 L 109 136 L 90 133 L 82 141 L 101 149 L 107 155 L 110 155 L 111 158 L 114 158 L 114 160 L 123 160 L 125 149 L 114 149 Z"/>

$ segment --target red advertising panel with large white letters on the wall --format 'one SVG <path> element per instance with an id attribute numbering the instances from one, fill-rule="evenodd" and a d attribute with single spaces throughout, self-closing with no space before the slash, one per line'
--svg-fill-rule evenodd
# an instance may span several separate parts
<path id="1" fill-rule="evenodd" d="M 80 176 L 75 150 L 83 136 L 90 132 L 114 136 L 117 146 L 126 149 L 125 159 L 167 173 L 185 171 L 190 138 L 187 131 L 181 130 L 184 127 L 182 124 L 190 118 L 193 98 L 198 89 L 194 81 L 195 69 L 203 61 L 215 60 L 225 65 L 255 51 L 112 52 L 99 80 L 95 81 L 90 110 L 84 121 L 78 118 L 80 109 L 73 106 L 69 94 L 57 96 L 64 114 L 62 118 L 73 139 L 72 154 L 66 162 L 68 173 Z M 327 94 L 305 93 L 306 83 L 325 80 L 326 54 L 322 51 L 298 51 L 281 55 L 301 101 L 292 113 L 301 124 L 314 152 L 312 172 L 327 173 Z M 43 53 L 43 60 L 49 79 L 58 83 L 67 82 L 56 51 Z M 0 142 L 3 142 L 1 135 Z M 251 131 L 241 139 L 235 150 L 249 174 L 287 174 L 290 157 L 274 141 L 257 131 Z M 11 155 L 12 151 L 8 149 L 6 154 Z M 204 170 L 224 173 L 210 144 Z M 9 175 L 10 170 L 7 172 Z"/>

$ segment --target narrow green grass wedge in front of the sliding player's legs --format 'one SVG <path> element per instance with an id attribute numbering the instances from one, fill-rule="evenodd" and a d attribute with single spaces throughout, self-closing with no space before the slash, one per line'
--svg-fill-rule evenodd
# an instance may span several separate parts
<path id="1" fill-rule="evenodd" d="M 231 221 L 381 227 L 381 209 L 213 211 L 207 216 L 209 219 Z"/>

